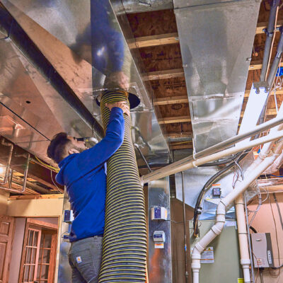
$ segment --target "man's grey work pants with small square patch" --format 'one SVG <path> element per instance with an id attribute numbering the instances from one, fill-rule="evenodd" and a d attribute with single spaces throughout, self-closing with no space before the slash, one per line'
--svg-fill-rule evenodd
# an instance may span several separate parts
<path id="1" fill-rule="evenodd" d="M 93 236 L 71 243 L 69 264 L 71 283 L 97 283 L 102 258 L 101 236 Z"/>

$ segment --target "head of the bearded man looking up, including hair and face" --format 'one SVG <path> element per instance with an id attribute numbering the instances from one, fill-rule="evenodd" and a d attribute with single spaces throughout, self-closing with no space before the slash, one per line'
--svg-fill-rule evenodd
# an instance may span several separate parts
<path id="1" fill-rule="evenodd" d="M 84 141 L 78 141 L 75 137 L 70 137 L 65 132 L 55 134 L 47 149 L 47 156 L 57 164 L 69 154 L 79 154 L 85 150 Z"/>

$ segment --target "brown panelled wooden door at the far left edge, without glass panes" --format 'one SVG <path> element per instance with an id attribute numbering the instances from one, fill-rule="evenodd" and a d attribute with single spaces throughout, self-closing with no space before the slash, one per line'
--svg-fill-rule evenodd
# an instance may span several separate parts
<path id="1" fill-rule="evenodd" d="M 8 270 L 11 260 L 14 219 L 0 215 L 0 283 L 8 282 Z"/>

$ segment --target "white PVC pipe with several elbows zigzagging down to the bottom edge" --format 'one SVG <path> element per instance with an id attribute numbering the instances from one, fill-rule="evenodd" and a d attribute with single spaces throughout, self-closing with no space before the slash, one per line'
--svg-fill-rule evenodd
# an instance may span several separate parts
<path id="1" fill-rule="evenodd" d="M 229 193 L 226 197 L 220 200 L 217 209 L 216 209 L 216 223 L 209 232 L 204 235 L 204 237 L 195 245 L 195 248 L 192 250 L 192 272 L 193 272 L 193 283 L 199 282 L 199 272 L 200 272 L 200 254 L 211 243 L 217 235 L 219 235 L 224 227 L 225 223 L 225 214 L 226 207 L 229 206 L 236 198 L 243 194 L 243 192 L 248 188 L 250 183 L 252 183 L 258 176 L 265 171 L 265 169 L 272 164 L 273 161 L 277 158 L 279 153 L 282 151 L 283 141 L 280 141 L 275 146 L 274 151 L 270 156 L 267 156 L 258 166 L 256 166 L 253 171 L 249 170 L 250 174 L 246 175 L 246 178 L 241 182 L 236 184 L 235 189 Z M 253 165 L 253 164 L 252 164 Z M 253 166 L 252 166 L 253 168 Z M 246 171 L 247 173 L 247 171 Z M 248 263 L 243 260 L 243 264 L 247 265 Z"/>

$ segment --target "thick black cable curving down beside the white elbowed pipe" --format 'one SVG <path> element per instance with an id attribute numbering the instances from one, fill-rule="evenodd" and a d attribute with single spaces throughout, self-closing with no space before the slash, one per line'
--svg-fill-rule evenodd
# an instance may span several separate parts
<path id="1" fill-rule="evenodd" d="M 230 164 L 228 164 L 227 166 L 225 166 L 224 168 L 222 168 L 221 171 L 214 174 L 211 178 L 209 178 L 207 183 L 205 183 L 205 185 L 202 187 L 202 190 L 200 191 L 200 195 L 197 197 L 197 202 L 195 204 L 195 209 L 194 209 L 193 226 L 194 226 L 194 236 L 195 237 L 197 237 L 198 234 L 199 234 L 199 229 L 198 229 L 198 225 L 197 225 L 197 218 L 198 218 L 198 215 L 202 213 L 202 207 L 200 207 L 200 202 L 202 201 L 202 197 L 203 197 L 204 193 L 207 192 L 207 190 L 209 190 L 209 187 L 210 187 L 210 185 L 212 185 L 214 180 L 216 180 L 222 174 L 224 174 L 226 171 L 228 171 L 233 166 L 235 166 L 235 163 L 233 161 L 235 161 L 235 160 L 241 161 L 247 154 L 248 154 L 248 152 L 243 154 L 243 151 L 242 151 L 242 152 L 239 152 L 238 154 L 236 154 L 235 156 L 233 156 L 232 162 Z"/>

